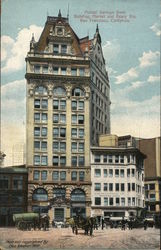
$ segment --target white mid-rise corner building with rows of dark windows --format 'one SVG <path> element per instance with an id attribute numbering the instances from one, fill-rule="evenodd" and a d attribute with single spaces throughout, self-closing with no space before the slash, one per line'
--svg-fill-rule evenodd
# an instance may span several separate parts
<path id="1" fill-rule="evenodd" d="M 92 216 L 128 217 L 144 208 L 145 155 L 131 145 L 106 135 L 91 147 Z"/>

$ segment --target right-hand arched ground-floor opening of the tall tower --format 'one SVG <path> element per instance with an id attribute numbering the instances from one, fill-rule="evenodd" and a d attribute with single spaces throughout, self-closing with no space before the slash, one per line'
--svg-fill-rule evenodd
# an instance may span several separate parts
<path id="1" fill-rule="evenodd" d="M 86 217 L 86 194 L 80 189 L 76 188 L 71 192 L 71 217 L 81 215 Z"/>

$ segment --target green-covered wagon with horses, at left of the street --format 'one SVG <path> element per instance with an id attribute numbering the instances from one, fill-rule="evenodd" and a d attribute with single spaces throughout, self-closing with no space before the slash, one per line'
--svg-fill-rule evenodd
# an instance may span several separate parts
<path id="1" fill-rule="evenodd" d="M 49 216 L 39 213 L 22 213 L 13 214 L 13 221 L 19 230 L 36 230 L 43 228 L 46 230 L 49 227 Z"/>

